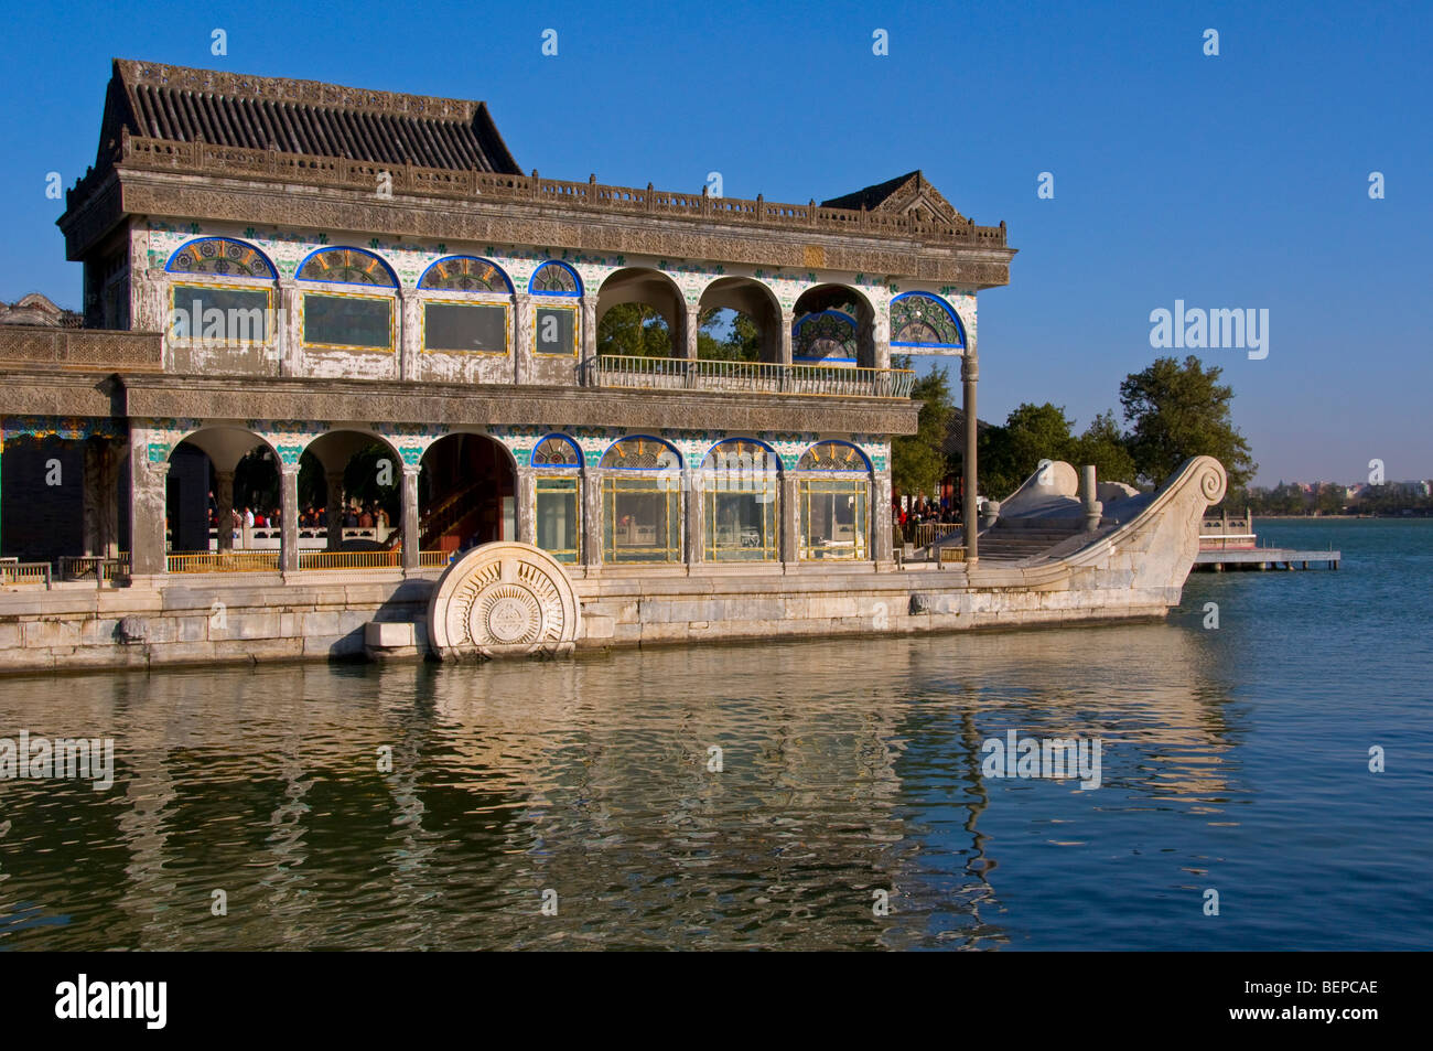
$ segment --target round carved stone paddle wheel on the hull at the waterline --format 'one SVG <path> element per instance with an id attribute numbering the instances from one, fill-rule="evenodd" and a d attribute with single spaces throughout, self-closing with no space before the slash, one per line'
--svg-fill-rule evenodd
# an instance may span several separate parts
<path id="1" fill-rule="evenodd" d="M 444 661 L 572 652 L 582 609 L 552 555 L 527 543 L 484 543 L 438 578 L 428 639 Z"/>

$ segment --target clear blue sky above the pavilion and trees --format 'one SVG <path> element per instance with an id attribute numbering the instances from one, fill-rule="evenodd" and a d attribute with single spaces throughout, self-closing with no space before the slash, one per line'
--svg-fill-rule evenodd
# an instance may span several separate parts
<path id="1" fill-rule="evenodd" d="M 1082 427 L 1149 311 L 1270 311 L 1234 386 L 1258 480 L 1433 476 L 1433 4 L 17 4 L 0 298 L 77 305 L 44 196 L 93 162 L 112 57 L 484 99 L 524 169 L 834 196 L 914 168 L 1020 249 L 980 297 L 980 416 Z M 557 30 L 559 54 L 540 34 Z M 1207 57 L 1204 30 L 1219 33 Z M 211 54 L 211 33 L 228 56 Z M 890 54 L 871 53 L 886 29 Z M 1040 172 L 1055 198 L 1039 199 Z M 1386 198 L 1369 198 L 1383 172 Z M 1185 351 L 1165 351 L 1184 354 Z"/>

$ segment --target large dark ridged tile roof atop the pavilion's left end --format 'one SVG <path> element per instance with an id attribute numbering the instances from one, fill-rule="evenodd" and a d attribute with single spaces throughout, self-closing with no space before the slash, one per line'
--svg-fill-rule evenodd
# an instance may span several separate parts
<path id="1" fill-rule="evenodd" d="M 116 59 L 102 162 L 132 135 L 421 168 L 520 173 L 481 102 Z"/>

